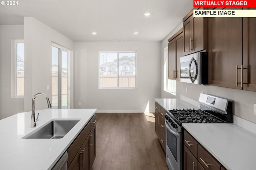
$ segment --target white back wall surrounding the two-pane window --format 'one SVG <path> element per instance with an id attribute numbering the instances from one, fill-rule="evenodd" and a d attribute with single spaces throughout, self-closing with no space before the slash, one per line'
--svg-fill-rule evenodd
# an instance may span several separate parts
<path id="1" fill-rule="evenodd" d="M 75 42 L 75 108 L 142 112 L 160 98 L 160 42 Z M 98 89 L 99 51 L 137 51 L 137 89 Z M 81 102 L 81 106 L 78 106 Z"/>

